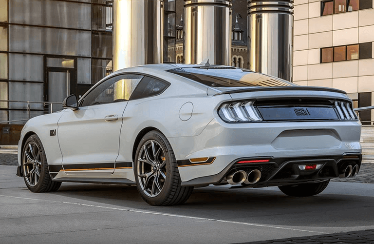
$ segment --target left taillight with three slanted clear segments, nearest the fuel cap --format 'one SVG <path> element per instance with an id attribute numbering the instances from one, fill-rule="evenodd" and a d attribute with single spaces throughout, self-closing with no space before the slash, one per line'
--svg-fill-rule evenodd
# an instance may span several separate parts
<path id="1" fill-rule="evenodd" d="M 224 122 L 261 122 L 254 101 L 224 103 L 218 109 L 218 115 Z"/>

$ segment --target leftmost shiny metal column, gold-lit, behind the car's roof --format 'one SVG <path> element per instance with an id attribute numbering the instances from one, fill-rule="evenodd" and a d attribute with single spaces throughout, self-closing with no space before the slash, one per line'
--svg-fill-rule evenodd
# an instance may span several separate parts
<path id="1" fill-rule="evenodd" d="M 114 0 L 113 71 L 162 63 L 163 0 Z"/>

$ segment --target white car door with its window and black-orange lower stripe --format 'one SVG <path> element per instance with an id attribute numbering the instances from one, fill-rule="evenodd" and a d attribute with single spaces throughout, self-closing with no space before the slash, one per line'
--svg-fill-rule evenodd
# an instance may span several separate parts
<path id="1" fill-rule="evenodd" d="M 141 75 L 122 74 L 96 85 L 58 121 L 62 166 L 67 174 L 112 174 L 119 153 L 122 115 Z"/>

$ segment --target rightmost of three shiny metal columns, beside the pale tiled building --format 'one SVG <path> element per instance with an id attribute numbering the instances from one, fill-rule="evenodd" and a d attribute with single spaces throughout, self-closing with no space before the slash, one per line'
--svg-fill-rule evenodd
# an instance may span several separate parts
<path id="1" fill-rule="evenodd" d="M 248 68 L 292 81 L 293 0 L 248 0 Z"/>

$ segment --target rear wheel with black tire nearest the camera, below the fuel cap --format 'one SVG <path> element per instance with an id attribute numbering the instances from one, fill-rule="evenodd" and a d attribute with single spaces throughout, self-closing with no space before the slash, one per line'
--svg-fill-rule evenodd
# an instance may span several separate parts
<path id="1" fill-rule="evenodd" d="M 150 131 L 139 142 L 134 173 L 136 187 L 143 200 L 150 205 L 182 204 L 192 194 L 193 187 L 181 186 L 173 149 L 158 130 Z"/>

